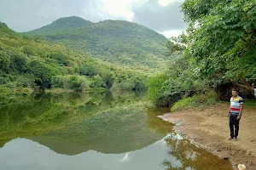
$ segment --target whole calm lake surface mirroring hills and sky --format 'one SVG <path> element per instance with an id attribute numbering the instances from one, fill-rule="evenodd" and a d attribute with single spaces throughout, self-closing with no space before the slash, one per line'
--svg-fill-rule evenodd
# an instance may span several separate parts
<path id="1" fill-rule="evenodd" d="M 0 95 L 1 170 L 231 170 L 142 94 Z"/>

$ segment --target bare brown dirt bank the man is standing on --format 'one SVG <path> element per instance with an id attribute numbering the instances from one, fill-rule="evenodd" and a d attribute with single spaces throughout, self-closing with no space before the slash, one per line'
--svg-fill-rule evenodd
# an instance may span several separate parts
<path id="1" fill-rule="evenodd" d="M 222 159 L 229 159 L 237 169 L 243 163 L 249 170 L 256 169 L 256 108 L 245 107 L 240 122 L 238 141 L 230 137 L 228 103 L 217 103 L 200 109 L 177 111 L 159 116 L 176 124 L 175 128 L 193 144 L 209 150 Z"/>

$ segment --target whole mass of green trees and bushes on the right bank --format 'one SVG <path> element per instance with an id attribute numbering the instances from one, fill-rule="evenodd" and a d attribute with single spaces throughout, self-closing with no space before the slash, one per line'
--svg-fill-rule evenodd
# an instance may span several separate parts
<path id="1" fill-rule="evenodd" d="M 167 42 L 169 54 L 183 53 L 170 69 L 148 81 L 148 96 L 160 105 L 193 94 L 218 92 L 230 96 L 232 87 L 253 96 L 256 85 L 256 2 L 244 0 L 185 0 L 181 6 L 189 28 Z M 224 93 L 225 92 L 225 93 Z M 198 95 L 183 100 L 196 105 Z M 209 95 L 208 96 L 214 96 Z"/>

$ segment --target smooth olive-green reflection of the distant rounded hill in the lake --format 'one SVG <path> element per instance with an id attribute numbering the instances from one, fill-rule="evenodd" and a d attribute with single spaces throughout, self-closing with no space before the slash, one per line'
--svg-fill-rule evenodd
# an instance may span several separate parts
<path id="1" fill-rule="evenodd" d="M 31 137 L 57 153 L 76 155 L 87 150 L 124 153 L 140 150 L 161 139 L 163 134 L 149 129 L 143 105 L 130 105 L 102 112 L 71 127 Z"/>

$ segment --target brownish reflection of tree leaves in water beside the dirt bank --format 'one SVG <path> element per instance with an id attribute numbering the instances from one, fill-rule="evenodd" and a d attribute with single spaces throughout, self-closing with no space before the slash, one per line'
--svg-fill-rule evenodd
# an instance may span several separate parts
<path id="1" fill-rule="evenodd" d="M 177 133 L 172 133 L 171 138 L 166 138 L 166 144 L 170 148 L 169 154 L 182 162 L 181 167 L 172 167 L 172 162 L 163 161 L 166 170 L 231 170 L 229 161 L 218 159 L 207 150 L 201 150 L 186 139 L 177 139 Z"/>

